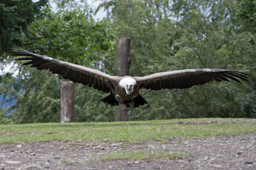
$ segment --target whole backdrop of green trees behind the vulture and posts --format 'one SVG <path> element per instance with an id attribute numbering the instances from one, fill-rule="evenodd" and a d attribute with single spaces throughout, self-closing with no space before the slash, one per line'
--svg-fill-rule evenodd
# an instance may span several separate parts
<path id="1" fill-rule="evenodd" d="M 115 38 L 131 37 L 131 76 L 216 68 L 253 74 L 250 83 L 212 82 L 187 90 L 141 90 L 148 101 L 130 120 L 256 118 L 256 2 L 217 0 L 0 1 L 0 67 L 13 64 L 14 45 L 113 75 Z M 103 20 L 93 20 L 100 9 Z M 14 76 L 14 71 L 18 74 Z M 59 122 L 63 78 L 15 62 L 0 76 L 0 124 Z M 75 121 L 113 121 L 107 94 L 76 84 Z M 10 113 L 11 112 L 11 113 Z M 10 113 L 10 114 L 9 114 Z"/>

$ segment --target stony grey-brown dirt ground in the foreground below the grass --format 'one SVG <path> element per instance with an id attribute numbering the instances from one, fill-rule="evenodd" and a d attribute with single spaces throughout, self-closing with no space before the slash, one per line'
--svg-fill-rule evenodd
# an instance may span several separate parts
<path id="1" fill-rule="evenodd" d="M 185 153 L 176 159 L 95 160 L 114 152 Z M 170 143 L 51 141 L 0 144 L 0 169 L 256 169 L 256 134 L 171 138 Z"/>

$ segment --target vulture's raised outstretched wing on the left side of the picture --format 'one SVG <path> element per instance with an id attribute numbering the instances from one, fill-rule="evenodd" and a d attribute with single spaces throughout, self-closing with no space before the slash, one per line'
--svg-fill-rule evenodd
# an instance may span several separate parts
<path id="1" fill-rule="evenodd" d="M 59 59 L 34 54 L 22 48 L 19 49 L 20 50 L 13 51 L 11 56 L 28 56 L 26 58 L 15 59 L 28 61 L 23 63 L 23 65 L 31 65 L 30 67 L 36 67 L 38 70 L 49 69 L 53 74 L 62 75 L 64 79 L 69 79 L 73 83 L 88 85 L 98 91 L 105 93 L 114 91 L 114 85 L 111 80 L 113 80 L 115 76 L 102 73 L 99 70 L 60 61 Z"/>

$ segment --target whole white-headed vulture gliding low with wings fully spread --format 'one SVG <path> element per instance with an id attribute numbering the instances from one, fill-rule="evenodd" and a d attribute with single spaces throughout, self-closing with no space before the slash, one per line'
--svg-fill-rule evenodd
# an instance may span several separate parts
<path id="1" fill-rule="evenodd" d="M 183 89 L 195 85 L 212 82 L 221 82 L 232 79 L 238 83 L 241 80 L 248 82 L 249 73 L 224 69 L 186 69 L 166 71 L 147 76 L 112 76 L 96 69 L 90 69 L 73 63 L 60 61 L 52 57 L 41 56 L 19 48 L 12 52 L 11 56 L 27 56 L 15 60 L 27 61 L 23 65 L 31 65 L 38 70 L 49 70 L 53 74 L 62 75 L 73 83 L 81 83 L 93 87 L 106 94 L 104 103 L 116 106 L 125 104 L 130 108 L 130 115 L 133 108 L 147 104 L 147 101 L 139 94 L 140 89 L 162 90 L 162 89 Z"/>

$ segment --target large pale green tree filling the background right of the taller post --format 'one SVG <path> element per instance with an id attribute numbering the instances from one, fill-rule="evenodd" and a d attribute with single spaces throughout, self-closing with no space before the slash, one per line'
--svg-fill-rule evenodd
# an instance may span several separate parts
<path id="1" fill-rule="evenodd" d="M 118 36 L 131 37 L 133 76 L 204 67 L 255 74 L 250 44 L 255 36 L 234 17 L 236 1 L 104 1 L 100 7 Z M 242 86 L 224 82 L 142 91 L 149 104 L 136 109 L 132 119 L 255 117 L 254 91 L 254 78 Z"/>

